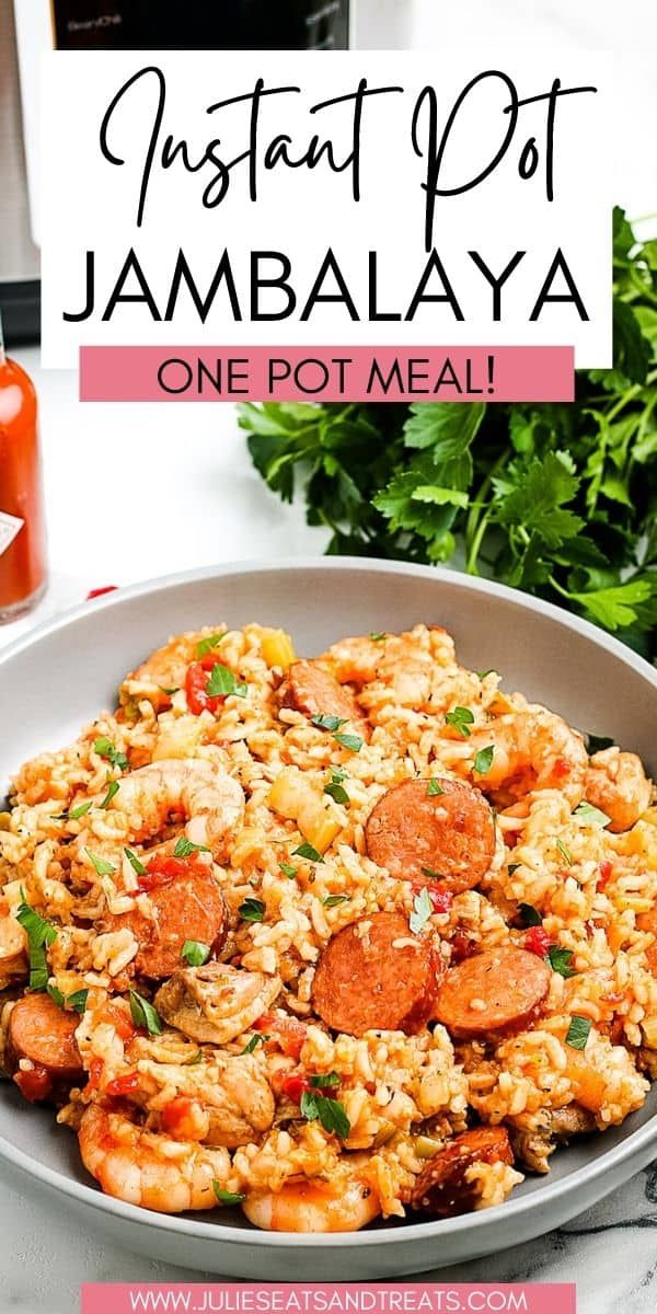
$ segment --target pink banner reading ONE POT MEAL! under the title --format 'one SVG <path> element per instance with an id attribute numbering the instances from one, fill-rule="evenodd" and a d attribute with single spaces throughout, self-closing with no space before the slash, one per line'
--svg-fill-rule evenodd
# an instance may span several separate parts
<path id="1" fill-rule="evenodd" d="M 81 402 L 572 402 L 572 347 L 80 347 Z"/>

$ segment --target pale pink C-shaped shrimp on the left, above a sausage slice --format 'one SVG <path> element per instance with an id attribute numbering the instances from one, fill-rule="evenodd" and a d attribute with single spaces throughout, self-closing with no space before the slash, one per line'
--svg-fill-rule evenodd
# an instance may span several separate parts
<path id="1" fill-rule="evenodd" d="M 242 824 L 244 795 L 238 782 L 212 762 L 171 758 L 122 777 L 104 808 L 125 813 L 129 838 L 137 844 L 160 834 L 172 816 L 183 813 L 187 838 L 210 849 L 221 862 Z"/>

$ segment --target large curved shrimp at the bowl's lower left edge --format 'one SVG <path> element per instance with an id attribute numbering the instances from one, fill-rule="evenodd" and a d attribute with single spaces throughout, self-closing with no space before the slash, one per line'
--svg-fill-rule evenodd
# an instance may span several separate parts
<path id="1" fill-rule="evenodd" d="M 213 1181 L 223 1187 L 231 1171 L 227 1150 L 146 1131 L 101 1104 L 84 1110 L 78 1138 L 84 1167 L 106 1196 L 163 1214 L 212 1209 Z"/>

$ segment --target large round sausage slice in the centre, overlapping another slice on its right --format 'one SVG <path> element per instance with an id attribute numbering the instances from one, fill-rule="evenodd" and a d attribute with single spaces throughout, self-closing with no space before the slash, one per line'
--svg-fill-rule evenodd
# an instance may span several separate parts
<path id="1" fill-rule="evenodd" d="M 419 1031 L 432 1013 L 442 959 L 398 912 L 339 930 L 319 959 L 313 1004 L 334 1031 Z"/>

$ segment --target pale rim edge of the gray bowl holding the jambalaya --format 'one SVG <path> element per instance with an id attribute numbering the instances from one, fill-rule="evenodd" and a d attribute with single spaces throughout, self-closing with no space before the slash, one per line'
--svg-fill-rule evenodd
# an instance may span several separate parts
<path id="1" fill-rule="evenodd" d="M 608 635 L 603 629 L 598 629 L 598 627 L 590 622 L 583 620 L 581 616 L 576 616 L 574 614 L 568 612 L 551 602 L 544 602 L 541 598 L 532 598 L 518 589 L 510 589 L 507 585 L 501 585 L 480 576 L 468 576 L 440 566 L 420 566 L 403 561 L 384 561 L 372 557 L 301 556 L 283 557 L 276 561 L 260 561 L 255 558 L 251 561 L 218 562 L 217 565 L 160 576 L 139 583 L 118 587 L 116 593 L 110 593 L 102 598 L 92 599 L 91 602 L 84 602 L 80 606 L 67 608 L 66 611 L 43 620 L 39 625 L 29 629 L 25 635 L 18 636 L 0 652 L 0 668 L 7 665 L 7 662 L 12 661 L 28 648 L 38 645 L 49 635 L 55 633 L 59 629 L 68 628 L 68 625 L 84 619 L 91 612 L 93 612 L 93 615 L 99 615 L 101 611 L 112 611 L 116 607 L 121 607 L 124 602 L 134 598 L 168 589 L 176 589 L 185 583 L 197 583 L 205 579 L 221 581 L 225 577 L 243 574 L 293 574 L 307 570 L 331 573 L 339 573 L 342 570 L 359 570 L 365 573 L 372 572 L 376 574 L 411 576 L 420 579 L 439 581 L 457 589 L 480 593 L 485 597 L 501 598 L 502 600 L 516 606 L 520 611 L 533 611 L 537 615 L 543 615 L 561 628 L 573 631 L 595 645 L 611 650 L 615 657 L 618 657 L 624 665 L 632 668 L 646 681 L 648 685 L 657 690 L 657 670 L 654 670 L 649 662 L 612 635 Z M 515 1200 L 507 1200 L 502 1205 L 494 1205 L 490 1209 L 473 1214 L 463 1214 L 457 1218 L 405 1223 L 403 1226 L 399 1226 L 399 1223 L 393 1221 L 392 1225 L 386 1226 L 384 1223 L 373 1231 L 328 1234 L 271 1233 L 261 1231 L 247 1225 L 229 1227 L 221 1222 L 208 1221 L 202 1212 L 194 1214 L 194 1217 L 155 1213 L 152 1210 L 143 1209 L 139 1205 L 130 1205 L 122 1200 L 116 1200 L 112 1196 L 105 1196 L 97 1187 L 76 1181 L 74 1177 L 70 1177 L 59 1169 L 39 1164 L 35 1158 L 22 1150 L 18 1150 L 1 1134 L 0 1158 L 25 1172 L 29 1177 L 46 1184 L 68 1198 L 75 1200 L 78 1204 L 88 1205 L 101 1214 L 113 1214 L 127 1223 L 150 1226 L 163 1233 L 173 1231 L 181 1236 L 193 1236 L 198 1240 L 225 1242 L 238 1246 L 269 1246 L 277 1250 L 298 1247 L 304 1250 L 313 1247 L 331 1250 L 336 1247 L 339 1248 L 347 1243 L 359 1248 L 368 1248 L 378 1246 L 384 1240 L 406 1244 L 406 1242 L 419 1240 L 420 1238 L 430 1239 L 439 1236 L 455 1236 L 464 1233 L 478 1233 L 484 1238 L 486 1231 L 491 1226 L 494 1227 L 501 1217 L 505 1217 L 511 1222 L 514 1218 L 519 1219 L 533 1214 L 536 1209 L 540 1209 L 544 1205 L 558 1202 L 570 1193 L 576 1194 L 579 1187 L 585 1187 L 594 1183 L 598 1177 L 611 1173 L 614 1168 L 622 1166 L 627 1159 L 632 1159 L 635 1156 L 637 1159 L 643 1158 L 644 1152 L 648 1151 L 648 1147 L 653 1141 L 657 1143 L 657 1113 L 653 1114 L 641 1127 L 637 1127 L 635 1131 L 631 1131 L 629 1135 L 624 1137 L 616 1146 L 612 1146 L 610 1150 L 602 1150 L 591 1163 L 582 1164 L 579 1168 L 576 1168 L 573 1172 L 569 1172 L 565 1177 L 557 1179 L 556 1181 L 548 1181 L 537 1192 L 531 1192 L 527 1196 L 519 1196 Z M 648 1162 L 648 1159 L 649 1152 L 645 1152 L 644 1162 Z M 213 1214 L 213 1218 L 214 1217 L 215 1215 Z"/>

